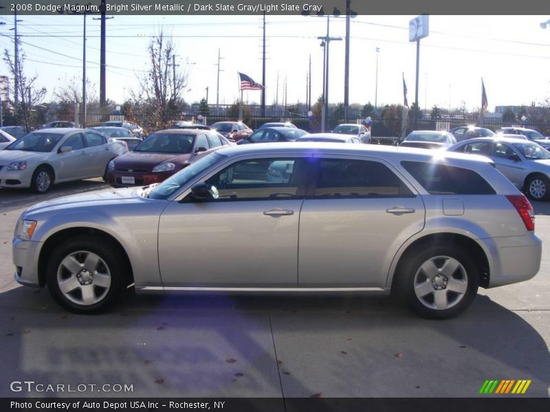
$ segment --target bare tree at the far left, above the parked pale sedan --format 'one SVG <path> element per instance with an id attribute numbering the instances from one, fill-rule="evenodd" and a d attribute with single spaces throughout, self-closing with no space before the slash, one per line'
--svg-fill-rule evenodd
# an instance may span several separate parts
<path id="1" fill-rule="evenodd" d="M 8 65 L 12 78 L 17 78 L 17 89 L 14 88 L 13 99 L 9 96 L 9 102 L 14 108 L 15 117 L 17 122 L 21 122 L 27 130 L 30 130 L 30 126 L 36 123 L 36 110 L 35 106 L 41 104 L 46 94 L 45 87 L 39 88 L 36 86 L 37 75 L 32 77 L 25 76 L 25 52 L 21 49 L 19 40 L 16 39 L 16 47 L 18 48 L 19 62 L 17 67 L 12 56 L 8 52 L 8 49 L 4 50 L 3 60 Z M 17 95 L 17 98 L 16 98 Z M 17 102 L 17 104 L 15 104 Z"/>

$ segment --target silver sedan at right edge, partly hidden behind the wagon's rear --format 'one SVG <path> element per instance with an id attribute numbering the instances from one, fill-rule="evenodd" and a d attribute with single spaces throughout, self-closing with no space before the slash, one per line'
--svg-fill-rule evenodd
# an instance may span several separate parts
<path id="1" fill-rule="evenodd" d="M 489 157 L 533 201 L 545 201 L 550 196 L 550 152 L 533 141 L 522 137 L 479 137 L 463 140 L 448 150 Z"/>

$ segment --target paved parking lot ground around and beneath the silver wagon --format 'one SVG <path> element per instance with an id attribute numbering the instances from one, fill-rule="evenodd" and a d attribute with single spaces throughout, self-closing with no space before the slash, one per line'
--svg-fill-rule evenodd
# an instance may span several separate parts
<path id="1" fill-rule="evenodd" d="M 127 295 L 107 314 L 70 314 L 14 282 L 14 223 L 36 201 L 104 187 L 0 190 L 2 397 L 476 397 L 487 379 L 532 380 L 523 396 L 550 396 L 550 203 L 533 203 L 540 273 L 481 289 L 448 321 L 364 296 Z M 10 389 L 25 380 L 87 387 Z"/>

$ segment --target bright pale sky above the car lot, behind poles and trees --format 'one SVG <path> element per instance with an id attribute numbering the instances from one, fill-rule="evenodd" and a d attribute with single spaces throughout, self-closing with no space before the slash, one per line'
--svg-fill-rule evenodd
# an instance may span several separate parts
<path id="1" fill-rule="evenodd" d="M 366 16 L 351 20 L 349 102 L 403 103 L 403 76 L 408 102 L 415 101 L 416 43 L 408 41 L 408 22 L 415 16 Z M 25 73 L 38 76 L 47 100 L 67 79 L 82 78 L 83 16 L 19 16 L 18 34 L 26 54 Z M 262 81 L 262 16 L 115 16 L 107 20 L 107 98 L 120 102 L 137 91 L 137 76 L 147 67 L 151 36 L 173 36 L 176 64 L 188 73 L 186 102 L 206 98 L 219 103 L 239 98 L 237 71 Z M 419 106 L 481 106 L 481 79 L 489 111 L 494 106 L 539 104 L 550 98 L 550 16 L 437 16 L 420 42 Z M 14 21 L 0 16 L 0 47 L 13 53 Z M 329 100 L 344 100 L 345 19 L 330 19 Z M 322 93 L 326 17 L 267 16 L 266 103 L 305 102 L 311 56 L 311 91 Z M 377 56 L 376 48 L 380 49 Z M 377 61 L 378 57 L 378 61 Z M 87 16 L 87 77 L 99 95 L 100 22 Z M 378 70 L 377 70 L 378 69 Z M 378 75 L 376 76 L 376 71 Z M 0 75 L 8 75 L 4 62 Z M 278 87 L 277 87 L 278 78 Z M 277 92 L 278 90 L 278 92 Z M 90 93 L 90 92 L 88 92 Z M 259 91 L 246 91 L 245 102 L 260 102 Z"/>

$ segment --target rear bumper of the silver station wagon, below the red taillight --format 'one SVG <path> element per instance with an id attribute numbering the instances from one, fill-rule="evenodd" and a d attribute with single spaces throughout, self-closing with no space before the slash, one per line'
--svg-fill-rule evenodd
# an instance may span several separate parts
<path id="1" fill-rule="evenodd" d="M 538 273 L 542 240 L 534 233 L 492 240 L 497 258 L 490 274 L 489 288 L 523 282 Z"/>

